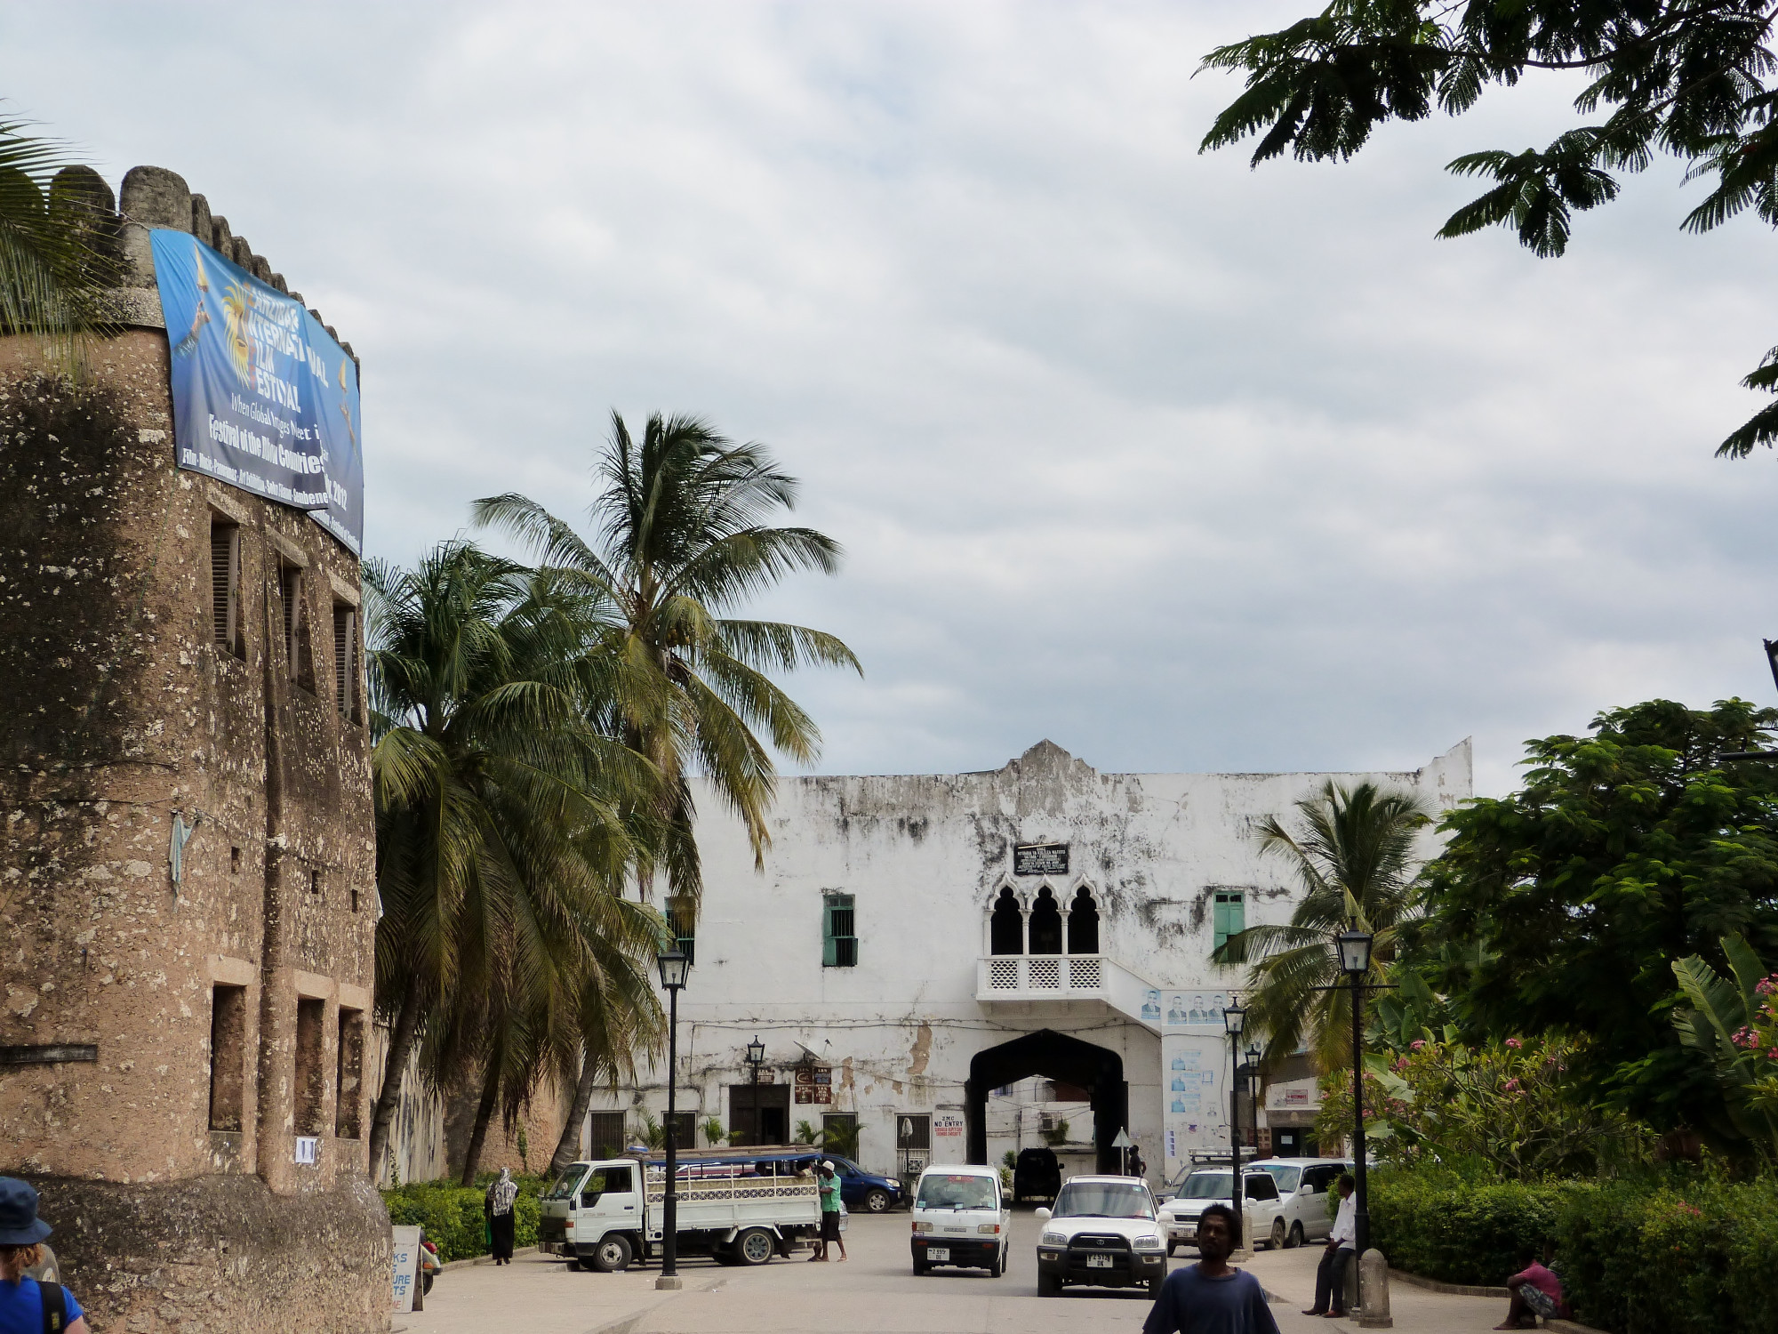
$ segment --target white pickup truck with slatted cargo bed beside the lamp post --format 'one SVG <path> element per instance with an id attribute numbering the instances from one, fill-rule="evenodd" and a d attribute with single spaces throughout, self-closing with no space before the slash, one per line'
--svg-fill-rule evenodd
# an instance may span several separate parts
<path id="1" fill-rule="evenodd" d="M 569 1163 L 542 1199 L 539 1249 L 601 1274 L 653 1259 L 665 1236 L 665 1188 L 667 1163 L 654 1154 Z M 765 1265 L 821 1229 L 814 1176 L 734 1149 L 681 1153 L 676 1193 L 681 1256 Z"/>

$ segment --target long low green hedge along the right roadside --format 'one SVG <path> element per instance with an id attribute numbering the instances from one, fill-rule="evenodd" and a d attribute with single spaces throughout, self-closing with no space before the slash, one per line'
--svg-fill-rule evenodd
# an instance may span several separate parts
<path id="1" fill-rule="evenodd" d="M 1575 1316 L 1616 1334 L 1778 1329 L 1778 1181 L 1474 1183 L 1371 1174 L 1371 1243 L 1428 1279 L 1506 1282 L 1554 1245 Z"/>

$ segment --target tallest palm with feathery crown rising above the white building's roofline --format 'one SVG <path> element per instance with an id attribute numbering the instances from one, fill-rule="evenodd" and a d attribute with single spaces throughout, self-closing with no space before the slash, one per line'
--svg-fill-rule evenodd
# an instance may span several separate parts
<path id="1" fill-rule="evenodd" d="M 695 416 L 649 416 L 635 439 L 622 416 L 594 468 L 592 537 L 521 494 L 475 505 L 477 523 L 503 528 L 535 551 L 542 573 L 585 598 L 585 624 L 608 619 L 613 660 L 626 665 L 612 727 L 658 772 L 656 806 L 669 831 L 660 861 L 681 921 L 702 889 L 692 838 L 688 770 L 702 770 L 747 827 L 763 866 L 775 768 L 770 747 L 797 763 L 820 751 L 814 720 L 768 676 L 802 665 L 850 667 L 837 637 L 734 612 L 786 575 L 832 575 L 839 544 L 813 528 L 773 526 L 797 503 L 797 480 L 763 445 L 734 445 Z M 766 740 L 761 740 L 759 733 Z M 651 873 L 640 877 L 644 896 Z M 557 1158 L 590 1103 L 589 1062 Z"/>

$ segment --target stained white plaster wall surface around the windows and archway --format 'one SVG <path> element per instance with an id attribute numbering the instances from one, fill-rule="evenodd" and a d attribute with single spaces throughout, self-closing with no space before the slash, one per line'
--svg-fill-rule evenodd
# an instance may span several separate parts
<path id="1" fill-rule="evenodd" d="M 679 1000 L 679 1106 L 727 1122 L 725 1087 L 747 1081 L 743 1048 L 757 1033 L 779 1081 L 811 1055 L 834 1069 L 832 1106 L 793 1105 L 793 1126 L 855 1112 L 862 1161 L 900 1170 L 896 1113 L 960 1119 L 971 1057 L 1053 1028 L 1122 1057 L 1129 1129 L 1157 1176 L 1168 1090 L 1152 1028 L 1097 1001 L 976 1000 L 989 905 L 1001 886 L 1029 900 L 1045 884 L 1013 875 L 1012 848 L 1069 843 L 1069 875 L 1047 884 L 1063 905 L 1079 884 L 1092 889 L 1102 953 L 1163 989 L 1229 992 L 1241 976 L 1209 962 L 1211 896 L 1243 888 L 1248 925 L 1287 921 L 1300 889 L 1282 863 L 1261 857 L 1252 831 L 1289 816 L 1330 777 L 1410 788 L 1447 809 L 1470 795 L 1470 747 L 1383 774 L 1099 774 L 1040 742 L 980 774 L 782 779 L 761 870 L 741 824 L 701 783 L 706 888 Z M 1424 850 L 1433 847 L 1428 832 Z M 853 895 L 855 968 L 821 966 L 823 891 Z M 661 1074 L 594 1106 L 658 1112 Z M 932 1158 L 962 1147 L 937 1144 Z M 997 1161 L 1010 1140 L 990 1147 Z"/>

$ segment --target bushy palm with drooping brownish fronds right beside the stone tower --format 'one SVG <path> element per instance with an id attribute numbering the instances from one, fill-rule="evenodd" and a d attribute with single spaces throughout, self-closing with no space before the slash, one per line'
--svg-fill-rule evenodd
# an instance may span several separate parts
<path id="1" fill-rule="evenodd" d="M 661 921 L 622 886 L 654 856 L 660 822 L 658 775 L 589 722 L 601 676 L 589 630 L 546 582 L 444 542 L 412 571 L 366 562 L 364 585 L 377 1003 L 391 1032 L 370 1135 L 380 1165 L 423 1035 L 428 1081 L 482 1076 L 480 1138 L 500 1090 L 509 1113 L 528 1096 L 548 1025 L 580 1016 L 589 985 L 640 1007 L 594 1046 L 658 1025 L 644 969 Z"/>

